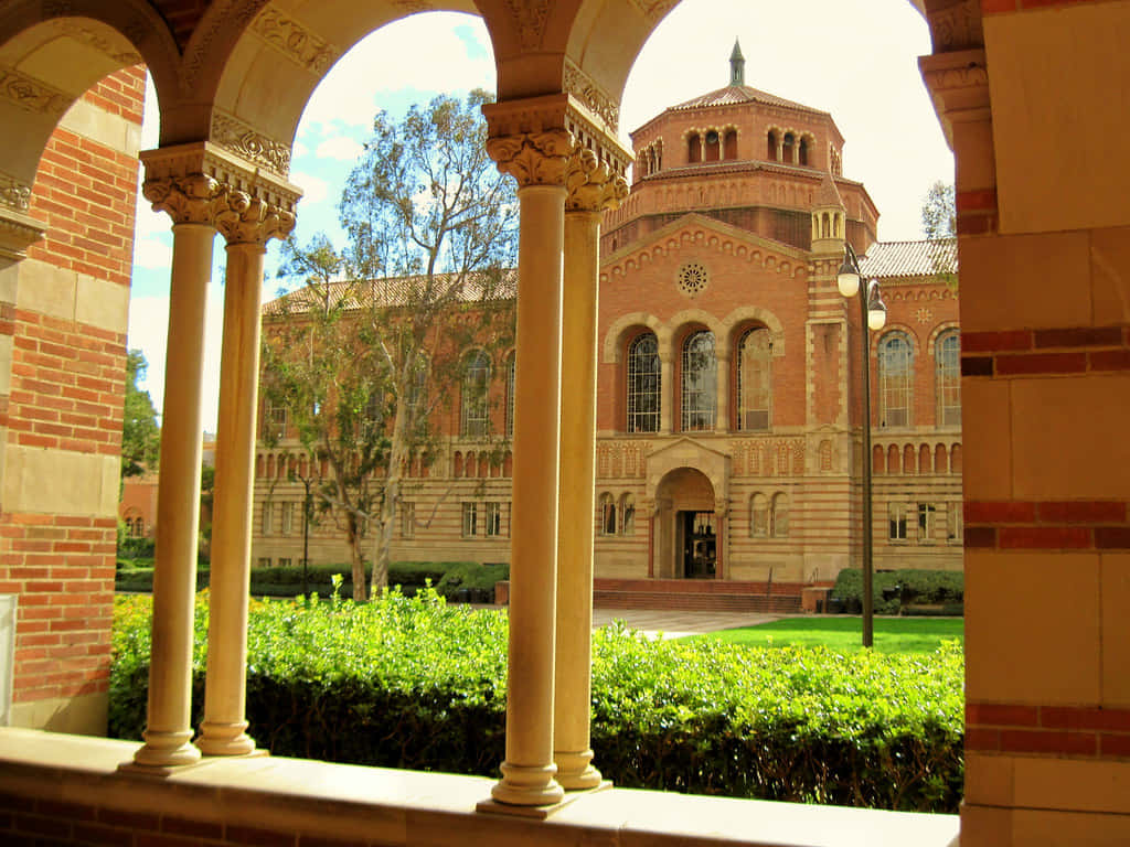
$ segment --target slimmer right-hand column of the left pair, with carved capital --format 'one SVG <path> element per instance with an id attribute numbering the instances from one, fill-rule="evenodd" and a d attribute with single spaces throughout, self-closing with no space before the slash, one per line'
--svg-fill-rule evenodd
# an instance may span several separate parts
<path id="1" fill-rule="evenodd" d="M 247 595 L 259 395 L 259 329 L 266 242 L 294 227 L 296 197 L 229 191 L 216 226 L 227 241 L 219 427 L 212 516 L 211 596 L 205 719 L 197 746 L 209 756 L 254 751 L 246 734 Z"/>

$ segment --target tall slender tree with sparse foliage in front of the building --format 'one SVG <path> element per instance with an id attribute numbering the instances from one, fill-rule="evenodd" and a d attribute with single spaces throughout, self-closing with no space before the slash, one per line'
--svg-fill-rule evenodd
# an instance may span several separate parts
<path id="1" fill-rule="evenodd" d="M 281 273 L 302 288 L 267 323 L 263 392 L 311 460 L 302 481 L 345 531 L 355 600 L 366 532 L 372 587 L 386 584 L 405 468 L 432 462 L 432 425 L 467 387 L 469 349 L 489 355 L 513 337 L 518 203 L 486 155 L 488 99 L 436 97 L 400 122 L 377 114 L 341 195 L 347 244 L 320 235 L 284 248 Z"/>

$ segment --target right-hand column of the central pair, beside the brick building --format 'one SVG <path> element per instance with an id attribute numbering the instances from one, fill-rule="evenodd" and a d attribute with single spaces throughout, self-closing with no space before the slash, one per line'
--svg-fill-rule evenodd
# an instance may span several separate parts
<path id="1" fill-rule="evenodd" d="M 560 785 L 577 789 L 600 785 L 589 746 L 600 218 L 627 184 L 582 147 L 566 186 L 554 761 Z"/>

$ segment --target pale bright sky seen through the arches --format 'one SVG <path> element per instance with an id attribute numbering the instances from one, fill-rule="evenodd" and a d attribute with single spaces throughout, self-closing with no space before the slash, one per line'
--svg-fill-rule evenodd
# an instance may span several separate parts
<path id="1" fill-rule="evenodd" d="M 953 182 L 954 160 L 918 70 L 929 30 L 907 0 L 684 0 L 644 45 L 628 77 L 620 136 L 663 108 L 729 82 L 738 37 L 746 84 L 832 114 L 845 139 L 844 176 L 861 181 L 879 209 L 879 238 L 921 237 L 920 209 L 937 180 Z M 420 61 L 421 45 L 428 61 Z M 402 113 L 443 91 L 495 88 L 486 27 L 477 17 L 429 12 L 390 24 L 330 70 L 303 114 L 292 159 L 298 203 L 296 235 L 340 235 L 336 207 L 374 113 Z M 436 60 L 435 58 L 440 58 Z M 405 69 L 410 73 L 405 73 Z M 410 80 L 410 87 L 403 85 Z M 142 149 L 156 147 L 158 114 L 146 103 Z M 163 403 L 172 236 L 168 218 L 139 194 L 129 346 L 149 361 L 145 387 Z M 264 299 L 276 296 L 277 243 L 268 252 Z M 209 286 L 205 429 L 215 431 L 223 312 L 223 239 L 215 242 Z"/>

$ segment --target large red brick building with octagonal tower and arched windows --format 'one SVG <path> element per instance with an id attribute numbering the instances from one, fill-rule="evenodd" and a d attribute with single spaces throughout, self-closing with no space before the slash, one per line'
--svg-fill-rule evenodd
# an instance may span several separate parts
<path id="1" fill-rule="evenodd" d="M 730 85 L 632 133 L 635 182 L 603 219 L 598 603 L 764 605 L 771 585 L 794 603 L 859 566 L 858 309 L 835 283 L 845 238 L 889 309 L 870 365 L 876 566 L 962 564 L 957 299 L 940 273 L 953 243 L 876 243 L 878 210 L 841 174 L 832 115 L 746 86 L 742 64 L 736 45 Z M 513 351 L 486 367 L 490 430 L 508 433 Z M 510 558 L 508 453 L 488 461 L 495 445 L 459 405 L 432 421 L 443 446 L 405 487 L 393 560 Z M 253 558 L 297 565 L 295 443 L 260 446 Z M 349 560 L 340 524 L 312 539 L 312 562 Z M 707 600 L 701 582 L 671 582 L 704 578 L 725 585 Z"/>

